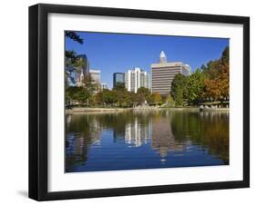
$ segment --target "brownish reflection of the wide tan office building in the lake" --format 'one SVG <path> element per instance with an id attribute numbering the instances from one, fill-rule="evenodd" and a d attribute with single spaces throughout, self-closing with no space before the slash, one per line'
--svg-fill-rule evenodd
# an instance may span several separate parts
<path id="1" fill-rule="evenodd" d="M 185 151 L 187 142 L 176 142 L 171 131 L 168 117 L 156 117 L 152 122 L 151 147 L 157 150 L 161 157 L 166 157 L 169 151 Z"/>

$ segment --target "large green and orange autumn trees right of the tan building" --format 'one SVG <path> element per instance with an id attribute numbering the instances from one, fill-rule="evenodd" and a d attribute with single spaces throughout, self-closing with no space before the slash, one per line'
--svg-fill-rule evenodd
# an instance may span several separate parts
<path id="1" fill-rule="evenodd" d="M 202 64 L 190 76 L 177 74 L 171 83 L 171 96 L 177 106 L 229 99 L 230 52 L 226 47 L 220 59 Z"/>

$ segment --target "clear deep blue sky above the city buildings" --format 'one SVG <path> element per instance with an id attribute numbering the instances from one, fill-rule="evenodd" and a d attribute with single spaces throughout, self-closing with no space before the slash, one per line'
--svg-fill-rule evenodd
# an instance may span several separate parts
<path id="1" fill-rule="evenodd" d="M 78 44 L 66 38 L 66 50 L 87 54 L 90 69 L 101 71 L 101 82 L 112 88 L 113 73 L 140 67 L 150 72 L 150 64 L 159 62 L 164 51 L 169 62 L 188 63 L 192 71 L 203 63 L 220 58 L 229 39 L 162 36 L 145 34 L 109 34 L 77 32 L 84 39 Z"/>

